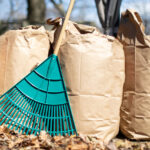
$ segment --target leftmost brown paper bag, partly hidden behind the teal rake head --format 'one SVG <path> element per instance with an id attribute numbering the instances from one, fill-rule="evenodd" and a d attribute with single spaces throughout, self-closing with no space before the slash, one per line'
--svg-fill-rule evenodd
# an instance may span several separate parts
<path id="1" fill-rule="evenodd" d="M 49 33 L 29 26 L 0 36 L 0 95 L 48 57 Z"/>

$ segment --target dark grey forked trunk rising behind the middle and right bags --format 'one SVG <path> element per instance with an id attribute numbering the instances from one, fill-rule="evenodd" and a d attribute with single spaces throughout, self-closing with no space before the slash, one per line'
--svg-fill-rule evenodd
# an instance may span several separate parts
<path id="1" fill-rule="evenodd" d="M 104 34 L 117 35 L 122 0 L 95 0 Z"/>

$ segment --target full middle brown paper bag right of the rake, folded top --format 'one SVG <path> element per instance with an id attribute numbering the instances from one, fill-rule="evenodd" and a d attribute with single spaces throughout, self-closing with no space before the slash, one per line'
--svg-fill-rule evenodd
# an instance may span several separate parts
<path id="1" fill-rule="evenodd" d="M 122 44 L 94 27 L 69 22 L 59 59 L 78 132 L 109 142 L 119 130 Z"/>

